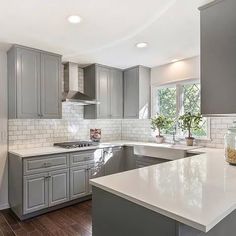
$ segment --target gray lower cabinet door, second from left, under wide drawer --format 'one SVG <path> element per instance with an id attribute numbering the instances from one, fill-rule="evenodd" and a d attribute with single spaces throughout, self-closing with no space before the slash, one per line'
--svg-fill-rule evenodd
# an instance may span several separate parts
<path id="1" fill-rule="evenodd" d="M 49 206 L 69 200 L 69 169 L 49 172 Z"/>

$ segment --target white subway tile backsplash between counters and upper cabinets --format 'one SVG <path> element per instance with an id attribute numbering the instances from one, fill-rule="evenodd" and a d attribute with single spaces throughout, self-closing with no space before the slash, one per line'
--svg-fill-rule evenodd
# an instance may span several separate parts
<path id="1" fill-rule="evenodd" d="M 79 89 L 83 92 L 83 69 L 79 69 Z M 83 106 L 63 103 L 62 119 L 9 120 L 9 149 L 52 146 L 55 142 L 89 139 L 91 128 L 102 130 L 102 140 L 132 140 L 155 142 L 150 120 L 84 120 Z M 223 148 L 224 135 L 236 117 L 210 118 L 211 140 L 197 140 L 198 145 Z"/>

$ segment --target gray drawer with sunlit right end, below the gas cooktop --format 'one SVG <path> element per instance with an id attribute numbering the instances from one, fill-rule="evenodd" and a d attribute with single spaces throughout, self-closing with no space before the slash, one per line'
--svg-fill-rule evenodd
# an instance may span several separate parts
<path id="1" fill-rule="evenodd" d="M 85 164 L 91 164 L 102 158 L 102 149 L 93 150 L 90 152 L 76 152 L 70 154 L 70 165 L 80 166 Z"/>

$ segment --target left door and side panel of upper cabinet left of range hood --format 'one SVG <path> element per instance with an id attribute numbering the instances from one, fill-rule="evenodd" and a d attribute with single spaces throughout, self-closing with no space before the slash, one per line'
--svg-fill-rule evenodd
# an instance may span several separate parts
<path id="1" fill-rule="evenodd" d="M 9 118 L 38 118 L 40 52 L 26 48 L 10 50 L 8 77 Z"/>

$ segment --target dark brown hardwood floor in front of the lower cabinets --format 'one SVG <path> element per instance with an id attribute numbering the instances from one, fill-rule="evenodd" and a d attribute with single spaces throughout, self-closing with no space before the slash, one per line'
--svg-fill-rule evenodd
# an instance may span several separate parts
<path id="1" fill-rule="evenodd" d="M 0 211 L 0 235 L 92 236 L 92 201 L 20 221 L 9 209 Z"/>

